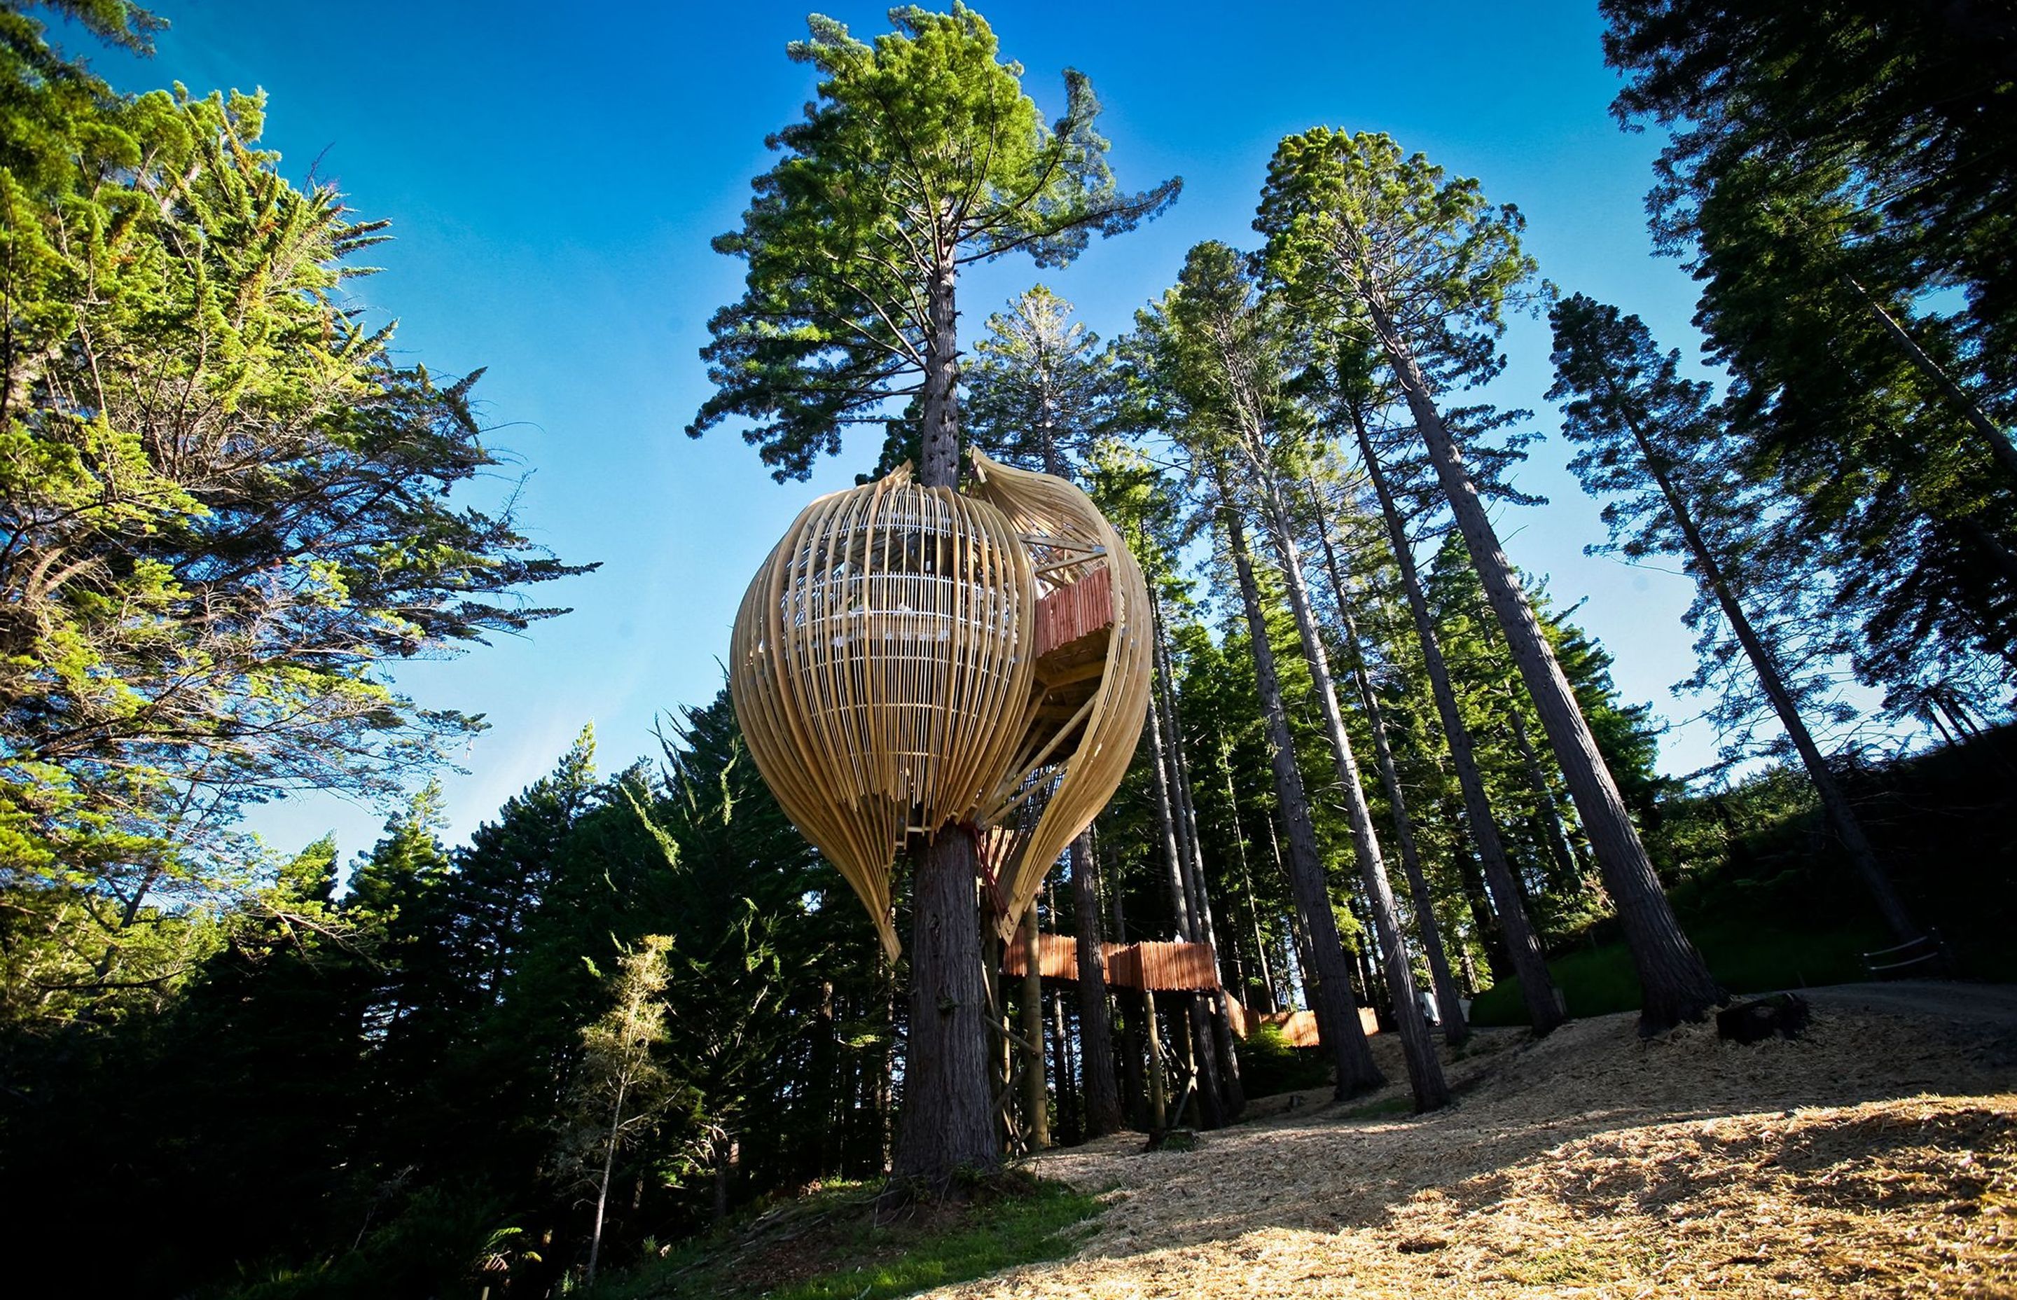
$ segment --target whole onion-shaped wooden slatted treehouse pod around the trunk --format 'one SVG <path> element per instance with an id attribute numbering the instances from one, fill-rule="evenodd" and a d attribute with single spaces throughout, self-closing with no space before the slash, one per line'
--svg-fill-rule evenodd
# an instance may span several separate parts
<path id="1" fill-rule="evenodd" d="M 974 454 L 809 505 L 736 612 L 750 757 L 900 951 L 889 868 L 968 828 L 1006 937 L 1105 807 L 1148 717 L 1148 585 L 1079 489 Z"/>

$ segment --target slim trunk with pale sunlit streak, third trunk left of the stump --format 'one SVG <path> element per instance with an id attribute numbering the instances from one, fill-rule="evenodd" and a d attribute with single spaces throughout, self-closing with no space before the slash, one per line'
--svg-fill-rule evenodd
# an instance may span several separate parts
<path id="1" fill-rule="evenodd" d="M 1295 529 L 1281 491 L 1265 468 L 1261 470 L 1259 486 L 1267 501 L 1267 515 L 1275 525 L 1275 549 L 1281 557 L 1283 587 L 1289 595 L 1289 610 L 1295 614 L 1297 632 L 1303 636 L 1303 658 L 1309 660 L 1311 692 L 1317 696 L 1323 733 L 1331 743 L 1331 763 L 1337 767 L 1337 791 L 1345 797 L 1345 814 L 1351 822 L 1351 848 L 1359 860 L 1359 880 L 1366 886 L 1366 904 L 1372 910 L 1374 933 L 1380 937 L 1388 999 L 1394 1007 L 1394 1027 L 1400 1030 L 1402 1056 L 1408 1060 L 1408 1086 L 1414 1090 L 1414 1108 L 1436 1110 L 1450 1102 L 1450 1086 L 1442 1078 L 1442 1062 L 1436 1060 L 1436 1046 L 1428 1038 L 1422 1003 L 1414 997 L 1414 973 L 1408 969 L 1408 951 L 1400 943 L 1400 920 L 1394 916 L 1394 888 L 1388 884 L 1386 860 L 1380 854 L 1380 836 L 1374 832 L 1374 814 L 1366 805 L 1359 761 L 1351 753 L 1351 737 L 1345 735 L 1345 717 L 1337 707 L 1331 658 L 1323 648 L 1323 634 L 1317 630 L 1317 618 L 1309 604 L 1309 587 L 1303 581 L 1303 557 L 1295 545 Z"/>

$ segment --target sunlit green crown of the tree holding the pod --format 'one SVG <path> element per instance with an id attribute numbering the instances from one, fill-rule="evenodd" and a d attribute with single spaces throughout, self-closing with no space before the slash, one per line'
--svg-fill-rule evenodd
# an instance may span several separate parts
<path id="1" fill-rule="evenodd" d="M 781 482 L 952 359 L 932 285 L 950 293 L 958 266 L 1017 250 L 1063 266 L 1093 232 L 1130 230 L 1180 188 L 1121 194 L 1091 83 L 1067 71 L 1065 115 L 1045 125 L 1023 67 L 996 59 L 974 10 L 896 8 L 889 22 L 896 32 L 863 44 L 833 18 L 807 20 L 791 57 L 821 73 L 819 101 L 770 137 L 783 157 L 756 178 L 742 228 L 714 240 L 748 262 L 746 293 L 710 321 L 716 394 L 686 432 L 750 420 L 742 436 Z"/>

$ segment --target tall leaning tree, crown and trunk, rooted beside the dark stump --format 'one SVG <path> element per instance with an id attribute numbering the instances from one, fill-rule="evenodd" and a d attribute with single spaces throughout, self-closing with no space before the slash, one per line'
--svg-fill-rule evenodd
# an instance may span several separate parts
<path id="1" fill-rule="evenodd" d="M 1519 246 L 1521 224 L 1513 208 L 1489 206 L 1476 182 L 1446 182 L 1426 157 L 1402 157 L 1386 135 L 1323 127 L 1291 135 L 1275 151 L 1257 220 L 1269 236 L 1273 275 L 1321 305 L 1327 325 L 1374 345 L 1406 400 L 1569 781 L 1640 975 L 1640 1027 L 1654 1034 L 1698 1019 L 1723 989 L 1660 892 L 1618 783 L 1436 404 L 1438 377 L 1476 373 L 1495 357 L 1507 297 L 1533 275 Z"/>

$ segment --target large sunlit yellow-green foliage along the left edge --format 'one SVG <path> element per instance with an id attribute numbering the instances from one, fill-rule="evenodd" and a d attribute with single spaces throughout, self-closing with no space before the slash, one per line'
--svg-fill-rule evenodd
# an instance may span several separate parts
<path id="1" fill-rule="evenodd" d="M 56 8 L 129 46 L 157 26 Z M 262 117 L 236 93 L 115 97 L 0 16 L 10 1017 L 171 989 L 206 949 L 163 943 L 167 918 L 270 870 L 246 870 L 238 814 L 397 791 L 480 721 L 385 666 L 557 614 L 524 587 L 583 571 L 458 495 L 500 464 L 474 375 L 397 363 L 339 303 L 383 222 L 282 180 Z"/>

